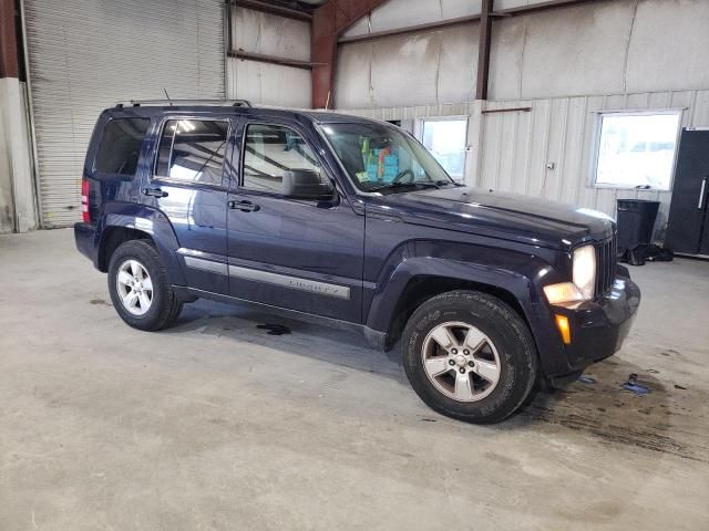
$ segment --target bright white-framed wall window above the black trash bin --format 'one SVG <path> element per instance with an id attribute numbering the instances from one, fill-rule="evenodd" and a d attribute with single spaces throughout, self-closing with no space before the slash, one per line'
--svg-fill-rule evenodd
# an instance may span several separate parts
<path id="1" fill-rule="evenodd" d="M 669 190 L 680 118 L 679 112 L 602 114 L 594 185 Z"/>

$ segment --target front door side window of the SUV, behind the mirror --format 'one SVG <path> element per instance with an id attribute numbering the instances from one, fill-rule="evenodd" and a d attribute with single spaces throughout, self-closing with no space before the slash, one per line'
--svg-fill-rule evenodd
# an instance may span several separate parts
<path id="1" fill-rule="evenodd" d="M 284 171 L 289 169 L 310 169 L 321 176 L 315 154 L 298 133 L 278 125 L 249 125 L 244 143 L 242 186 L 280 194 Z"/>

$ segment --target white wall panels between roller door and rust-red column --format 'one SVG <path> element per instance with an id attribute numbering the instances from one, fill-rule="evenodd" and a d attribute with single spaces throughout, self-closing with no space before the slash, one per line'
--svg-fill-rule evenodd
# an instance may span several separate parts
<path id="1" fill-rule="evenodd" d="M 310 61 L 308 22 L 233 8 L 232 50 Z M 227 94 L 253 103 L 310 107 L 310 71 L 244 59 L 228 59 Z"/>

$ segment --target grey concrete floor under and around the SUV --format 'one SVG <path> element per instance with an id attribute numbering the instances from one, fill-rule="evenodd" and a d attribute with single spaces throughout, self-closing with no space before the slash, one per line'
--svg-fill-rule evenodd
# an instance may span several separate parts
<path id="1" fill-rule="evenodd" d="M 137 332 L 70 230 L 0 237 L 0 530 L 709 529 L 709 264 L 633 274 L 596 384 L 477 427 L 359 337 L 206 302 Z"/>

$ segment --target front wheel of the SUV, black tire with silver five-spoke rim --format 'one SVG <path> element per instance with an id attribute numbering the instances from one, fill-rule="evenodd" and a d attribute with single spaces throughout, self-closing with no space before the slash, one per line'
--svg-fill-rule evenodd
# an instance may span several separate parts
<path id="1" fill-rule="evenodd" d="M 402 336 L 403 367 L 419 397 L 467 423 L 499 423 L 512 415 L 535 386 L 537 360 L 517 312 L 475 291 L 428 300 L 413 312 Z"/>

